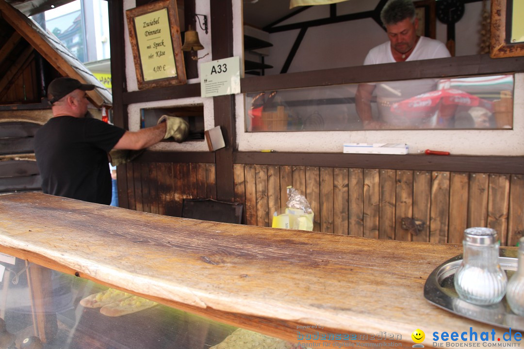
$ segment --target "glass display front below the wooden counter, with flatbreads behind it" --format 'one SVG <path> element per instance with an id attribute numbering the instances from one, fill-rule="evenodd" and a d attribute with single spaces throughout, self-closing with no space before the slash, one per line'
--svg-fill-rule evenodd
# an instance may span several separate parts
<path id="1" fill-rule="evenodd" d="M 2 260 L 1 348 L 295 347 L 19 258 Z"/>

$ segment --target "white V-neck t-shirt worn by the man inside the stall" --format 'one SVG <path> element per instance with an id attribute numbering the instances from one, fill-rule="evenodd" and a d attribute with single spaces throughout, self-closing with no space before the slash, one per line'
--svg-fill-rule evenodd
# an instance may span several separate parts
<path id="1" fill-rule="evenodd" d="M 445 57 L 451 57 L 451 55 L 442 42 L 427 37 L 420 37 L 415 48 L 413 49 L 413 52 L 411 52 L 406 61 Z M 391 43 L 387 41 L 369 50 L 369 53 L 364 60 L 364 65 L 394 62 L 396 61 L 393 57 L 393 54 L 391 53 Z M 400 102 L 401 100 L 433 91 L 436 88 L 436 80 L 419 79 L 391 81 L 376 83 L 375 85 L 377 107 L 379 110 L 380 119 L 382 121 L 390 123 L 391 125 L 402 127 L 416 126 L 424 122 L 424 120 L 417 119 L 413 115 L 410 115 L 409 117 L 394 115 L 392 114 L 390 107 L 391 104 L 395 102 Z"/>

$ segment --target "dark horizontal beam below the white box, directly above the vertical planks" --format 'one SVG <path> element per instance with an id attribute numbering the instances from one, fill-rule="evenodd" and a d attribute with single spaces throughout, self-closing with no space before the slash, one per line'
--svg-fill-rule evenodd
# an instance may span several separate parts
<path id="1" fill-rule="evenodd" d="M 524 156 L 236 152 L 234 163 L 524 174 Z"/>

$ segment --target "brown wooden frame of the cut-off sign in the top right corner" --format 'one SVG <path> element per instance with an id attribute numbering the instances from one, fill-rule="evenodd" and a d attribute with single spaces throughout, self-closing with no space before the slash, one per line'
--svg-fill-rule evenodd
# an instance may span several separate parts
<path id="1" fill-rule="evenodd" d="M 511 43 L 509 39 L 513 17 L 512 4 L 513 0 L 492 0 L 491 2 L 491 44 L 489 48 L 491 58 L 524 55 L 524 43 Z"/>

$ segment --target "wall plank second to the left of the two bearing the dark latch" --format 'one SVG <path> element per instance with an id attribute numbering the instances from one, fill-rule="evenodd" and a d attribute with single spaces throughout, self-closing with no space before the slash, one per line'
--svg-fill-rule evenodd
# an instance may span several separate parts
<path id="1" fill-rule="evenodd" d="M 378 239 L 380 189 L 378 170 L 364 170 L 364 238 Z"/>

